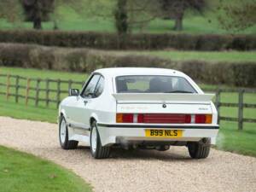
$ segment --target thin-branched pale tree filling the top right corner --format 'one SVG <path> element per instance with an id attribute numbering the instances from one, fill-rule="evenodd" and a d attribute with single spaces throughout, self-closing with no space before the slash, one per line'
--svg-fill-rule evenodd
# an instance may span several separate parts
<path id="1" fill-rule="evenodd" d="M 225 30 L 241 31 L 256 25 L 256 0 L 220 1 L 218 21 Z"/>

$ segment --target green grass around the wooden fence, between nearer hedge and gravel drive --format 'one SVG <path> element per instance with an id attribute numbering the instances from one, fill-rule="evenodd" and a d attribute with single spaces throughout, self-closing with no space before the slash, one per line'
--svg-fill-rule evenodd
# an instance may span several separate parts
<path id="1" fill-rule="evenodd" d="M 63 73 L 54 72 L 47 70 L 37 70 L 37 69 L 22 69 L 22 68 L 11 68 L 11 67 L 0 67 L 0 73 L 11 73 L 19 74 L 26 77 L 34 78 L 51 78 L 51 79 L 73 79 L 78 81 L 84 81 L 87 74 L 82 73 Z M 0 79 L 3 82 L 4 79 Z M 25 84 L 24 84 L 25 85 Z M 81 86 L 80 86 L 81 87 Z M 201 88 L 217 88 L 217 87 L 228 87 L 227 85 L 212 85 L 212 84 L 201 84 Z M 55 88 L 53 85 L 52 88 Z M 79 87 L 77 87 L 79 88 Z M 0 88 L 3 89 L 3 88 Z M 67 90 L 67 84 L 63 84 L 62 90 Z M 33 93 L 32 93 L 33 94 Z M 54 95 L 52 95 L 54 97 Z M 67 96 L 67 94 L 62 94 L 61 98 Z M 256 104 L 256 94 L 245 94 L 244 101 L 247 103 Z M 221 95 L 221 102 L 238 102 L 238 94 L 236 93 L 223 93 Z M 39 107 L 34 106 L 34 102 L 29 102 L 26 106 L 25 101 L 20 100 L 19 103 L 15 103 L 14 98 L 11 98 L 9 102 L 6 102 L 5 96 L 0 96 L 0 115 L 11 116 L 18 119 L 34 119 L 49 121 L 51 123 L 56 123 L 57 119 L 57 109 L 55 104 L 45 107 L 44 102 L 39 103 Z M 22 113 L 20 113 L 22 112 Z M 237 117 L 237 108 L 220 108 L 220 113 L 222 116 L 226 117 Z M 245 118 L 256 119 L 256 109 L 244 108 Z M 240 154 L 249 154 L 256 156 L 256 124 L 244 124 L 243 131 L 237 131 L 237 123 L 233 122 L 221 122 L 221 128 L 218 136 L 217 148 L 223 150 L 234 151 Z"/>

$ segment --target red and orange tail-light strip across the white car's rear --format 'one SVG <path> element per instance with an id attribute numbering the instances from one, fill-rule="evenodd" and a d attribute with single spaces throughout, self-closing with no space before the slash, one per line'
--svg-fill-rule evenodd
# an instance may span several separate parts
<path id="1" fill-rule="evenodd" d="M 117 123 L 212 124 L 212 114 L 117 113 Z"/>

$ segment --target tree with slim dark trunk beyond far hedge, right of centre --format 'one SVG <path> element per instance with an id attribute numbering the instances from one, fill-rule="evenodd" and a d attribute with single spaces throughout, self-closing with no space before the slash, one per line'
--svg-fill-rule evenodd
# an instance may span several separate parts
<path id="1" fill-rule="evenodd" d="M 174 30 L 183 30 L 183 16 L 187 9 L 193 9 L 199 13 L 207 7 L 207 0 L 160 0 L 163 17 L 174 19 Z"/>

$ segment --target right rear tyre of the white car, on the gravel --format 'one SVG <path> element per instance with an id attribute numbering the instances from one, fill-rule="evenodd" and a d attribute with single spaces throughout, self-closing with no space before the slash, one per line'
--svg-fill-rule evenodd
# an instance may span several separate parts
<path id="1" fill-rule="evenodd" d="M 193 159 L 206 159 L 210 154 L 211 139 L 205 138 L 201 142 L 188 143 L 189 155 Z"/>

